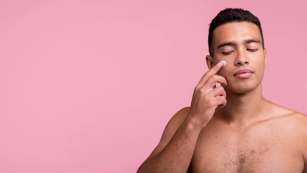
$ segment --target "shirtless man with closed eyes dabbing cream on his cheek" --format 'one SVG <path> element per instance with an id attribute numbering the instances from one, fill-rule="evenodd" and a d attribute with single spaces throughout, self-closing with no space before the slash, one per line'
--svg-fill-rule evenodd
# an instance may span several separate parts
<path id="1" fill-rule="evenodd" d="M 307 116 L 262 96 L 259 20 L 225 9 L 212 20 L 208 43 L 209 71 L 191 107 L 171 118 L 138 173 L 307 173 Z"/>

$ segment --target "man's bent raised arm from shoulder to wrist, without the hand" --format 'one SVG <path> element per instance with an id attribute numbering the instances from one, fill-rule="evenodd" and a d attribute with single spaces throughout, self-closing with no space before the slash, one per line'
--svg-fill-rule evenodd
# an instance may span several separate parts
<path id="1" fill-rule="evenodd" d="M 189 108 L 181 109 L 172 117 L 159 144 L 137 173 L 187 172 L 200 133 L 199 128 L 184 120 L 188 111 Z"/>

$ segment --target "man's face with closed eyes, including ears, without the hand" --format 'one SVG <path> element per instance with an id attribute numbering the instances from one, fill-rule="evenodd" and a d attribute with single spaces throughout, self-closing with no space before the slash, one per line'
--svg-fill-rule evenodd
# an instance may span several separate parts
<path id="1" fill-rule="evenodd" d="M 225 90 L 246 93 L 260 87 L 266 64 L 258 27 L 251 22 L 232 22 L 213 31 L 214 57 L 207 56 L 211 68 L 221 60 L 227 65 L 218 75 L 228 82 Z"/>

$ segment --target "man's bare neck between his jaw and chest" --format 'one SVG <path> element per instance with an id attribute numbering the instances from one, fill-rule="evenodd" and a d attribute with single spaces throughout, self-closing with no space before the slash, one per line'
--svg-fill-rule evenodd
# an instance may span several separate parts
<path id="1" fill-rule="evenodd" d="M 266 110 L 267 100 L 262 96 L 261 85 L 249 93 L 228 92 L 226 99 L 226 106 L 218 107 L 216 113 L 227 123 L 248 125 L 265 118 L 264 110 Z"/>

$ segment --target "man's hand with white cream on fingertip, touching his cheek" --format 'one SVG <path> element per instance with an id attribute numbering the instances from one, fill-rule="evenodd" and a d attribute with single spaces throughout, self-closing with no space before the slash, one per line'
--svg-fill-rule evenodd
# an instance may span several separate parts
<path id="1" fill-rule="evenodd" d="M 203 129 L 212 118 L 215 109 L 220 106 L 224 107 L 226 101 L 226 91 L 222 86 L 216 87 L 216 83 L 228 86 L 223 76 L 216 75 L 222 68 L 223 64 L 219 62 L 205 73 L 198 85 L 194 89 L 191 108 L 188 116 L 193 123 Z"/>

